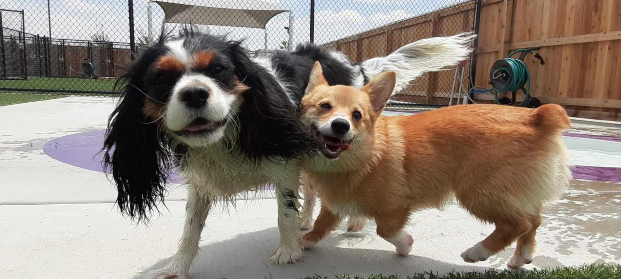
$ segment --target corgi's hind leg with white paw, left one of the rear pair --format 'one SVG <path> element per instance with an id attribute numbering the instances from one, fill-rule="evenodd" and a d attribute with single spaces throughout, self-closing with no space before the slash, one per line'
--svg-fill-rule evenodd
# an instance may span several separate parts
<path id="1" fill-rule="evenodd" d="M 532 229 L 528 218 L 517 218 L 512 221 L 497 222 L 496 229 L 483 239 L 461 253 L 465 262 L 479 262 L 487 260 L 491 255 L 504 250 L 519 236 Z"/>

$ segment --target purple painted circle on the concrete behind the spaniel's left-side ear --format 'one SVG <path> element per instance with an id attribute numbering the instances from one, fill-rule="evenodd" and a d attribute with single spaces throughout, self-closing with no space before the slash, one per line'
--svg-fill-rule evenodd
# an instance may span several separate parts
<path id="1" fill-rule="evenodd" d="M 94 130 L 52 139 L 43 145 L 43 152 L 53 159 L 83 169 L 104 172 L 101 162 L 104 153 L 99 150 L 104 146 L 106 130 Z M 182 183 L 183 179 L 171 172 L 168 182 Z"/>

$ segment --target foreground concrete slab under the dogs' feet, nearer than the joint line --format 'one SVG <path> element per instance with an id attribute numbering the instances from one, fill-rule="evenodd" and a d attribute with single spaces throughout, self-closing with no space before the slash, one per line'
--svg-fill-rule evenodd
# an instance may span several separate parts
<path id="1" fill-rule="evenodd" d="M 613 201 L 613 200 L 617 201 Z M 538 231 L 534 267 L 583 263 L 616 263 L 621 259 L 619 196 L 569 197 L 551 206 Z M 302 278 L 371 273 L 407 275 L 413 272 L 471 271 L 505 268 L 514 247 L 483 263 L 459 257 L 481 241 L 492 226 L 481 224 L 456 206 L 445 211 L 415 213 L 407 231 L 414 236 L 409 257 L 375 236 L 374 224 L 362 232 L 341 226 L 319 246 L 306 251 L 306 260 L 279 267 L 269 263 L 278 243 L 276 201 L 238 201 L 237 210 L 218 208 L 207 219 L 201 253 L 191 278 Z M 585 206 L 589 210 L 585 211 Z M 11 278 L 132 278 L 162 267 L 174 254 L 181 235 L 184 201 L 150 226 L 130 224 L 112 204 L 0 206 L 0 266 Z"/>

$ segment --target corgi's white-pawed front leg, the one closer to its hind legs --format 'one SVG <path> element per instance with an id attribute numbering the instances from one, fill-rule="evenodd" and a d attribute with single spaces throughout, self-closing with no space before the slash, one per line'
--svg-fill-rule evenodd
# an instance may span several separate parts
<path id="1" fill-rule="evenodd" d="M 378 225 L 378 236 L 391 242 L 396 247 L 399 255 L 406 256 L 412 250 L 414 239 L 403 231 L 406 226 L 409 212 L 375 216 L 375 223 Z"/>

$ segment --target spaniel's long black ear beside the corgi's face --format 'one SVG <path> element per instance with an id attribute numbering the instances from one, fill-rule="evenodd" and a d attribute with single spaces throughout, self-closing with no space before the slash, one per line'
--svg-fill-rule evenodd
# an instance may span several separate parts
<path id="1" fill-rule="evenodd" d="M 239 113 L 242 153 L 253 162 L 314 154 L 317 139 L 299 120 L 297 105 L 265 68 L 250 60 L 240 44 L 229 42 L 228 48 L 235 75 L 250 87 L 243 92 Z"/>

